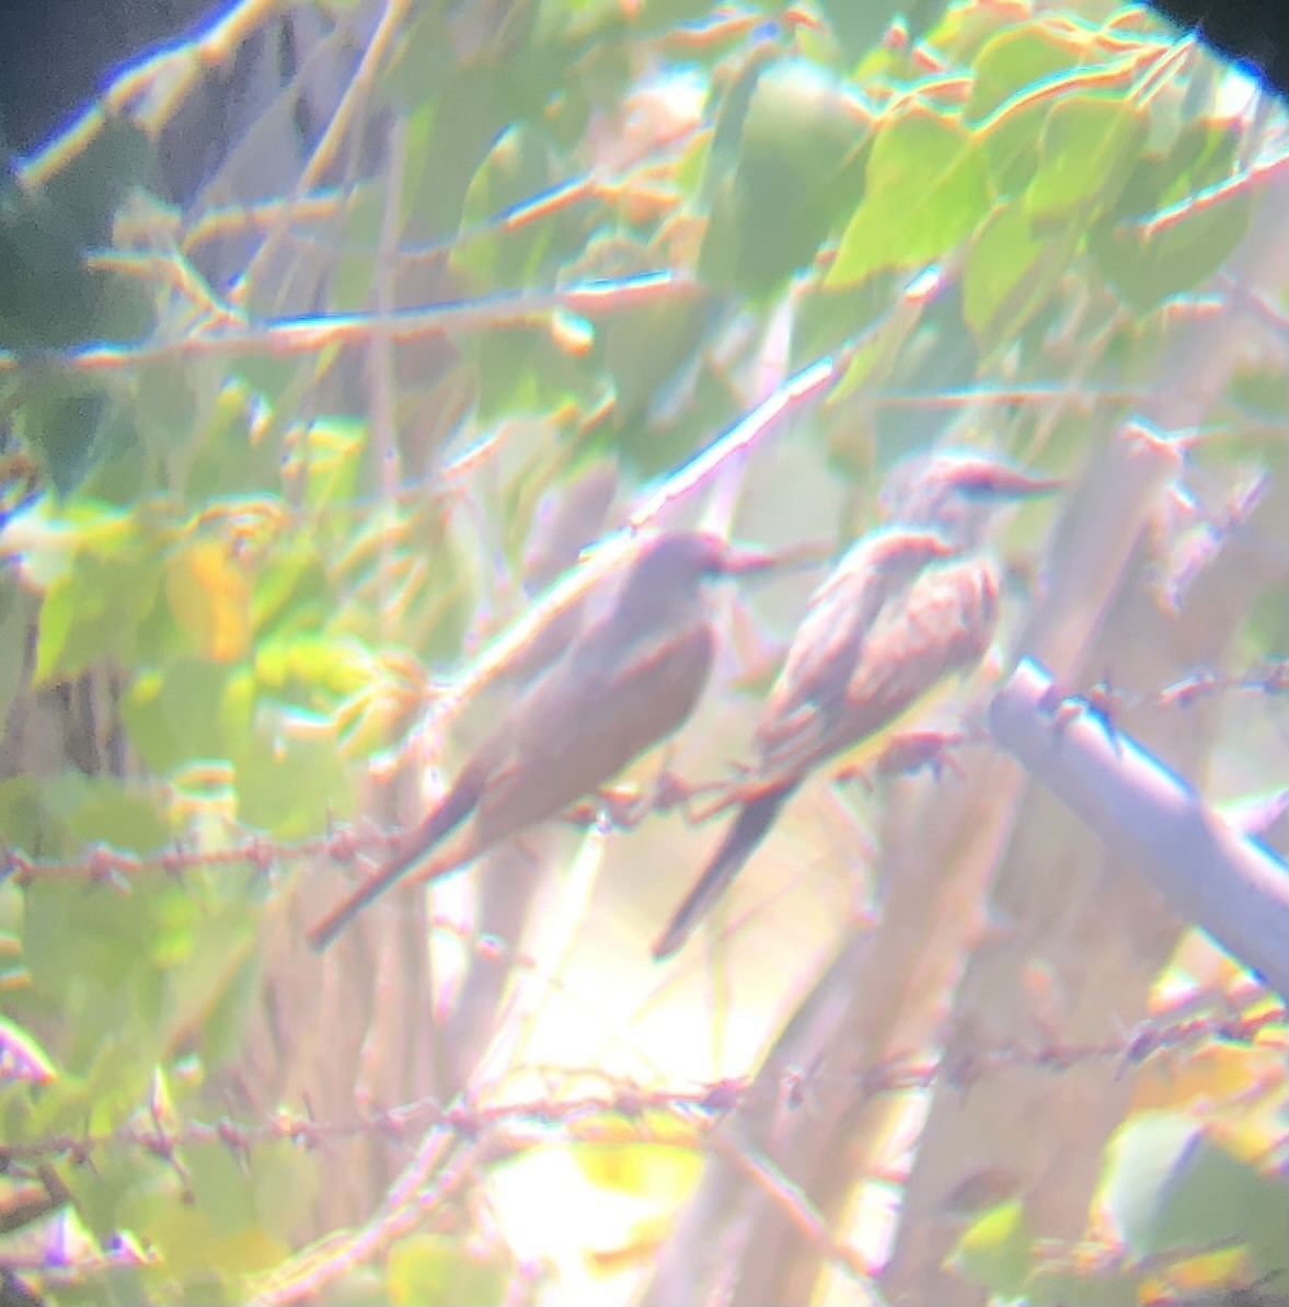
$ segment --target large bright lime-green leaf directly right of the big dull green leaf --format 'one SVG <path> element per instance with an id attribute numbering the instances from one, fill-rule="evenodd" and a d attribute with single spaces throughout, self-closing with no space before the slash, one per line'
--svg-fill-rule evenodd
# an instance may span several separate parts
<path id="1" fill-rule="evenodd" d="M 951 118 L 914 108 L 879 125 L 865 199 L 841 238 L 825 285 L 849 286 L 884 268 L 953 251 L 989 216 L 979 142 Z"/>

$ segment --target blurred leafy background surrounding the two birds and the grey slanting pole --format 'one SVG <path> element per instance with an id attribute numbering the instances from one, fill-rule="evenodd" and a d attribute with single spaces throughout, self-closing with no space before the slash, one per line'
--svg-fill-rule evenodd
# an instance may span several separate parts
<path id="1" fill-rule="evenodd" d="M 983 731 L 1034 656 L 1284 856 L 1284 16 L 1173 18 L 0 9 L 4 1300 L 1282 1299 L 1281 999 Z M 665 805 L 304 945 L 584 550 L 791 555 L 620 778 L 721 780 L 948 448 L 1064 489 L 943 750 L 818 769 L 676 958 Z"/>

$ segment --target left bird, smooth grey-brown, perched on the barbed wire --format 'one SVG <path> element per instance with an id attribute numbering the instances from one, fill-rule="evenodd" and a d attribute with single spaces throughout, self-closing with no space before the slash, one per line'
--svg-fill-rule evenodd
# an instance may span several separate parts
<path id="1" fill-rule="evenodd" d="M 709 532 L 648 536 L 611 601 L 518 695 L 404 847 L 310 928 L 312 948 L 325 949 L 409 873 L 428 881 L 465 867 L 679 731 L 716 650 L 704 582 L 772 565 L 769 554 Z"/>

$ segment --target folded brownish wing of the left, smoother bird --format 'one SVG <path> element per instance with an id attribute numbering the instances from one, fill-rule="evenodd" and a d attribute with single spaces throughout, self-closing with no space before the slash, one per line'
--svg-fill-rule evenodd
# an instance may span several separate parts
<path id="1" fill-rule="evenodd" d="M 507 762 L 479 800 L 492 843 L 598 789 L 688 718 L 712 665 L 701 618 L 623 640 L 620 614 L 589 630 L 516 706 Z"/>

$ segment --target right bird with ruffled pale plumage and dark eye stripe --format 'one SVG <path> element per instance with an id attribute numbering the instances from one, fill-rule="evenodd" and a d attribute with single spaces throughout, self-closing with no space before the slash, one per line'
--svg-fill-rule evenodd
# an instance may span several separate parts
<path id="1" fill-rule="evenodd" d="M 970 451 L 915 455 L 887 480 L 888 521 L 862 536 L 811 596 L 756 732 L 751 792 L 662 933 L 678 953 L 820 763 L 878 736 L 998 626 L 1002 579 L 981 550 L 999 507 L 1059 488 Z"/>

